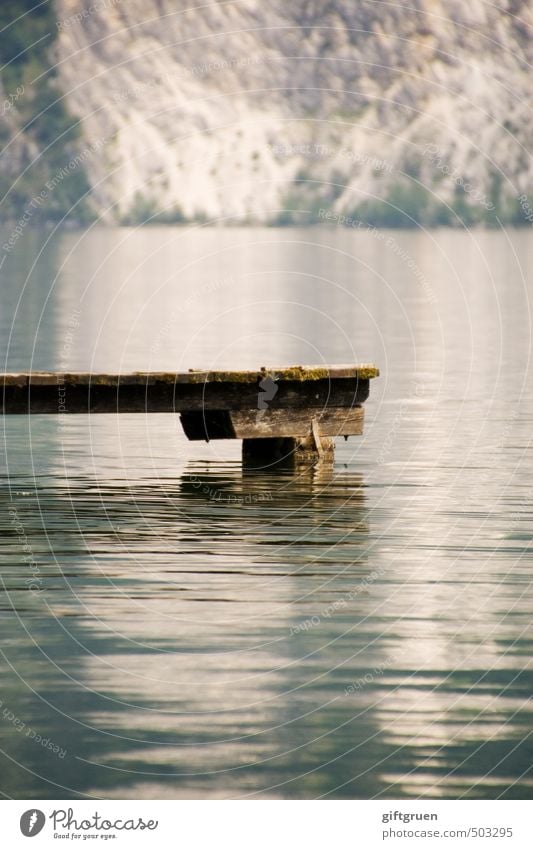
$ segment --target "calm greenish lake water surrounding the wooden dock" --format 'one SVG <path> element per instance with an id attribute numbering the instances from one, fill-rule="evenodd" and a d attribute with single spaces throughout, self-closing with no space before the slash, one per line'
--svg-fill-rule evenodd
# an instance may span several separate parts
<path id="1" fill-rule="evenodd" d="M 169 415 L 4 417 L 3 795 L 533 798 L 531 257 L 526 230 L 21 235 L 0 371 L 382 376 L 295 476 Z"/>

